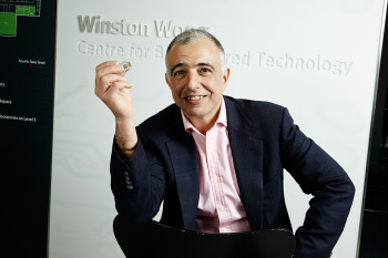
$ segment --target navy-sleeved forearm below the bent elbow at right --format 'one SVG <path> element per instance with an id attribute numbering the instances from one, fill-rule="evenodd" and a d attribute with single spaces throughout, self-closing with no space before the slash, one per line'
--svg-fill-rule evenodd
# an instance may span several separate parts
<path id="1" fill-rule="evenodd" d="M 304 225 L 295 235 L 295 257 L 329 257 L 345 227 L 354 193 L 354 185 L 346 174 L 313 190 Z"/>

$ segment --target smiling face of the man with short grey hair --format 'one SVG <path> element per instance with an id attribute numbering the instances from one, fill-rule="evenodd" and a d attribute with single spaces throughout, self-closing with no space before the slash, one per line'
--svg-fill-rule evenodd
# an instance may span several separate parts
<path id="1" fill-rule="evenodd" d="M 176 105 L 194 126 L 215 122 L 229 70 L 223 73 L 221 53 L 214 42 L 203 39 L 175 44 L 167 56 L 166 82 Z"/>

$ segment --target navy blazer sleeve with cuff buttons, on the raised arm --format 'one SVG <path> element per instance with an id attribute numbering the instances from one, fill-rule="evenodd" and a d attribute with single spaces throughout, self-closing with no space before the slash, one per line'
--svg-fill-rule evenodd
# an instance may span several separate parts
<path id="1" fill-rule="evenodd" d="M 143 144 L 139 138 L 134 157 L 123 159 L 113 142 L 111 155 L 111 188 L 116 210 L 134 224 L 152 220 L 165 196 L 162 165 Z"/>

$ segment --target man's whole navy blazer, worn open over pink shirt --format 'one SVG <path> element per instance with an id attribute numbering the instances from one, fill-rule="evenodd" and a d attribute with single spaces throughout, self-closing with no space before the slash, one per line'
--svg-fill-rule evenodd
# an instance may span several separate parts
<path id="1" fill-rule="evenodd" d="M 304 225 L 296 233 L 295 257 L 328 257 L 337 242 L 355 193 L 345 171 L 294 124 L 287 109 L 224 96 L 227 131 L 241 198 L 252 230 L 292 229 L 283 187 L 286 169 L 312 194 Z M 172 104 L 137 127 L 132 159 L 116 144 L 111 187 L 119 214 L 147 223 L 162 203 L 161 223 L 195 229 L 200 198 L 198 158 L 180 109 Z"/>

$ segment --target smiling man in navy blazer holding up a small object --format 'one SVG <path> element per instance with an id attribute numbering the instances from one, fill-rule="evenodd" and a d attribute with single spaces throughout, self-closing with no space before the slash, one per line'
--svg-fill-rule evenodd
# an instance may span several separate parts
<path id="1" fill-rule="evenodd" d="M 229 69 L 203 30 L 177 35 L 165 80 L 175 104 L 135 127 L 132 84 L 116 62 L 96 68 L 95 94 L 113 112 L 111 157 L 116 209 L 144 224 L 198 231 L 292 229 L 283 169 L 314 198 L 295 234 L 294 257 L 328 257 L 348 216 L 354 185 L 344 169 L 276 104 L 224 96 Z"/>

